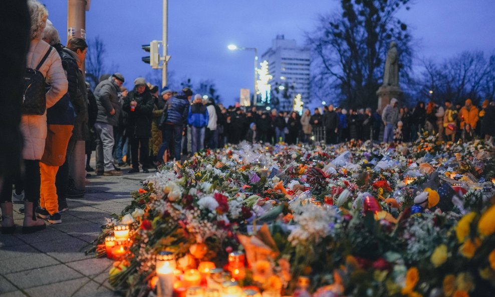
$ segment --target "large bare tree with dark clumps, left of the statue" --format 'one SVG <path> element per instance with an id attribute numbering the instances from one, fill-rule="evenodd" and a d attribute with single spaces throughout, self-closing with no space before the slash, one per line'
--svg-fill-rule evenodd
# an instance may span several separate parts
<path id="1" fill-rule="evenodd" d="M 395 17 L 409 0 L 340 2 L 339 13 L 321 16 L 320 26 L 307 34 L 316 74 L 312 85 L 319 92 L 314 95 L 349 107 L 376 107 L 376 91 L 391 41 L 397 43 L 400 53 L 399 69 L 411 65 L 411 36 Z M 407 76 L 405 71 L 400 74 L 401 78 Z"/>

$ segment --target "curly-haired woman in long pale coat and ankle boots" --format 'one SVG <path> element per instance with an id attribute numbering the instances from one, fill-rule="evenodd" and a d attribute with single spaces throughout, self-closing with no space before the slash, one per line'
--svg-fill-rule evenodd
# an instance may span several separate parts
<path id="1" fill-rule="evenodd" d="M 50 49 L 50 45 L 41 40 L 41 34 L 48 19 L 48 11 L 36 0 L 29 0 L 28 7 L 31 16 L 31 44 L 26 57 L 26 67 L 35 69 Z M 68 88 L 62 62 L 55 49 L 52 49 L 39 71 L 45 77 L 46 82 L 51 85 L 46 93 L 46 108 L 48 109 L 62 98 Z M 24 136 L 22 156 L 26 199 L 23 233 L 32 233 L 45 228 L 45 222 L 36 219 L 35 208 L 40 198 L 40 159 L 45 150 L 47 137 L 46 112 L 41 116 L 22 115 L 21 132 Z M 0 193 L 2 233 L 13 233 L 16 228 L 13 219 L 12 184 L 13 177 L 6 177 L 2 193 Z"/>

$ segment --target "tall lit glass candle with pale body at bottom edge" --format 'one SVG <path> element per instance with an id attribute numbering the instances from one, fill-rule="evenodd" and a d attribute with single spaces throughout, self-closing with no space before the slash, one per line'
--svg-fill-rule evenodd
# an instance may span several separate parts
<path id="1" fill-rule="evenodd" d="M 161 251 L 156 255 L 156 275 L 158 276 L 158 297 L 172 297 L 174 290 L 175 257 L 169 251 Z"/>

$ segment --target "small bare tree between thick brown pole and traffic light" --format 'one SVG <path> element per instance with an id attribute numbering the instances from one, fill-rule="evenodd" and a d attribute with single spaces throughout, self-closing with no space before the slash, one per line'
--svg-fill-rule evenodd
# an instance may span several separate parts
<path id="1" fill-rule="evenodd" d="M 103 39 L 99 36 L 96 36 L 94 39 L 88 39 L 87 43 L 86 80 L 91 85 L 91 88 L 94 89 L 100 82 L 100 76 L 109 73 L 105 63 L 107 50 Z"/>

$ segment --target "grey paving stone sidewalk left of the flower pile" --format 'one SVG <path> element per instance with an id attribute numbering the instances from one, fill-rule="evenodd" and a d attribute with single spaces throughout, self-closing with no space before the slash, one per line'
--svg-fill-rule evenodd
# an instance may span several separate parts
<path id="1" fill-rule="evenodd" d="M 34 234 L 22 234 L 24 215 L 16 211 L 14 235 L 0 234 L 0 297 L 119 296 L 107 282 L 113 261 L 85 255 L 105 217 L 130 203 L 130 191 L 150 173 L 90 177 L 84 198 L 68 199 L 62 223 Z M 93 172 L 94 173 L 94 172 Z"/>

